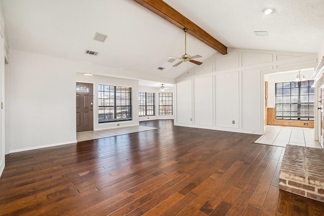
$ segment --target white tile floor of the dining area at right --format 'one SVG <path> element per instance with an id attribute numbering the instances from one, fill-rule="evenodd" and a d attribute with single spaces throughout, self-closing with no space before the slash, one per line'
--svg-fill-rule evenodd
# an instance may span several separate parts
<path id="1" fill-rule="evenodd" d="M 282 127 L 267 125 L 265 135 L 255 143 L 286 147 L 286 145 L 321 148 L 318 141 L 314 140 L 314 128 Z"/>

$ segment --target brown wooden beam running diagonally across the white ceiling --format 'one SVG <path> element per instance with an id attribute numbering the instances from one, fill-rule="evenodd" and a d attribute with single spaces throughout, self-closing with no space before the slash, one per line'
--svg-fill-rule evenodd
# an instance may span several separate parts
<path id="1" fill-rule="evenodd" d="M 170 7 L 168 4 L 162 0 L 133 0 L 143 7 L 149 9 L 155 14 L 163 17 L 172 24 L 178 26 L 181 29 L 187 28 L 188 33 L 197 39 L 203 41 L 205 44 L 215 49 L 219 53 L 225 55 L 227 54 L 227 47 L 221 42 L 211 36 L 209 33 L 201 29 L 199 26 L 191 22 L 185 16 L 180 14 L 178 11 Z"/>

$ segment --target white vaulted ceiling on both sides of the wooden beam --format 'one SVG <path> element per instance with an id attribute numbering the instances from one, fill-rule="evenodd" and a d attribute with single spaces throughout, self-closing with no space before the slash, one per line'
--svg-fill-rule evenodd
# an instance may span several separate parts
<path id="1" fill-rule="evenodd" d="M 317 53 L 324 40 L 323 0 L 164 1 L 228 48 Z M 168 56 L 184 54 L 184 32 L 131 0 L 3 0 L 3 6 L 13 49 L 157 78 L 176 78 L 196 67 L 167 62 Z M 266 16 L 262 11 L 268 7 L 275 12 Z M 93 40 L 96 32 L 108 35 L 104 43 Z M 86 50 L 99 55 L 86 55 Z M 204 62 L 217 51 L 188 34 L 187 53 L 203 56 L 197 60 Z"/>

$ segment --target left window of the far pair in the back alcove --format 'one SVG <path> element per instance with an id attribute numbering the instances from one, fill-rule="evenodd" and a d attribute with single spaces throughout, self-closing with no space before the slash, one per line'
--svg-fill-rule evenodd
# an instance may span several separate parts
<path id="1" fill-rule="evenodd" d="M 155 93 L 139 92 L 139 116 L 155 115 Z"/>

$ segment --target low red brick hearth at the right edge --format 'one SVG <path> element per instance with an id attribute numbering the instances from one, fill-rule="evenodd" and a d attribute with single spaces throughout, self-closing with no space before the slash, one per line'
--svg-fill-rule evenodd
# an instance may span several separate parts
<path id="1" fill-rule="evenodd" d="M 287 145 L 279 188 L 324 202 L 324 150 Z"/>

